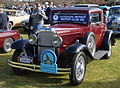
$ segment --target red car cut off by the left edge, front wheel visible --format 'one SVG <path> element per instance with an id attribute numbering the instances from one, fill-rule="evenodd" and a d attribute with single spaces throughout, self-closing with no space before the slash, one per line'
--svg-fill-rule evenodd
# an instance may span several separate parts
<path id="1" fill-rule="evenodd" d="M 0 30 L 0 49 L 4 53 L 11 52 L 11 44 L 20 38 L 20 34 L 17 30 L 7 31 Z"/>

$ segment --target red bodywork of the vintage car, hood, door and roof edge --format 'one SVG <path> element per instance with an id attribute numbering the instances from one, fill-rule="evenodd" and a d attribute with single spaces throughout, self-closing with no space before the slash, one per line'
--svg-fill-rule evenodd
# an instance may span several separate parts
<path id="1" fill-rule="evenodd" d="M 84 12 L 84 13 L 89 13 L 89 18 L 91 18 L 91 14 L 94 13 L 98 13 L 99 17 L 100 17 L 100 21 L 97 23 L 93 23 L 93 22 L 88 22 L 88 25 L 81 25 L 81 24 L 72 24 L 72 23 L 58 23 L 58 24 L 53 24 L 52 28 L 54 28 L 58 35 L 60 35 L 63 38 L 63 44 L 66 44 L 67 46 L 71 45 L 72 43 L 75 42 L 76 39 L 79 39 L 80 42 L 82 42 L 82 39 L 85 36 L 86 32 L 90 32 L 92 31 L 95 34 L 95 38 L 96 38 L 96 47 L 100 47 L 103 36 L 104 36 L 104 32 L 107 30 L 105 24 L 103 23 L 103 19 L 102 19 L 102 10 L 100 10 L 99 8 L 77 8 L 75 7 L 73 8 L 67 8 L 67 11 L 65 8 L 60 8 L 59 11 L 61 11 L 60 13 L 62 13 L 62 11 L 64 13 L 67 12 L 73 12 L 74 10 L 76 10 L 76 12 Z M 58 12 L 59 12 L 58 11 Z M 53 13 L 57 13 L 57 9 L 54 11 Z M 97 25 L 98 24 L 98 25 Z M 74 40 L 74 41 L 73 41 Z"/>

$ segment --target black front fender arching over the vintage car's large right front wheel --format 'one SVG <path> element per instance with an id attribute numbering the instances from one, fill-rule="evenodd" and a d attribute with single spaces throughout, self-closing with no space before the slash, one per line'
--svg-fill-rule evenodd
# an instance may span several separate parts
<path id="1" fill-rule="evenodd" d="M 79 53 L 80 51 L 83 51 L 87 58 L 87 63 L 91 60 L 93 60 L 93 57 L 91 53 L 89 52 L 88 48 L 86 45 L 83 44 L 74 44 L 69 46 L 67 49 L 65 49 L 59 56 L 58 58 L 58 64 L 61 67 L 69 67 L 70 63 L 73 59 L 73 55 Z"/>

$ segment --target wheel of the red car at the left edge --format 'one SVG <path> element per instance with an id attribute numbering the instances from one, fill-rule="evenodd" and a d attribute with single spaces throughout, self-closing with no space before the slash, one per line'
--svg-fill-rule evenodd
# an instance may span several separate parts
<path id="1" fill-rule="evenodd" d="M 12 48 L 11 48 L 11 44 L 12 43 L 13 43 L 13 39 L 12 38 L 5 39 L 5 41 L 3 43 L 2 51 L 4 53 L 11 52 L 12 51 Z"/>

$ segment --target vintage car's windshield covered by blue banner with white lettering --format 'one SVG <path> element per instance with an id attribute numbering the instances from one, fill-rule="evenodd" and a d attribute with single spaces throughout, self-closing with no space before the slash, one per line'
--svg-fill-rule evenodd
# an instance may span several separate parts
<path id="1" fill-rule="evenodd" d="M 53 13 L 52 23 L 78 23 L 78 24 L 88 24 L 88 14 L 85 13 Z"/>

